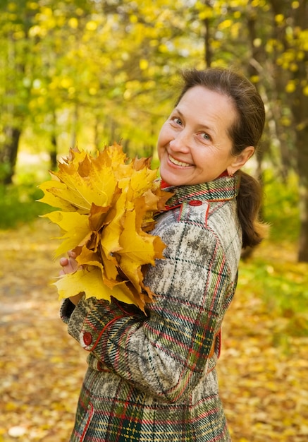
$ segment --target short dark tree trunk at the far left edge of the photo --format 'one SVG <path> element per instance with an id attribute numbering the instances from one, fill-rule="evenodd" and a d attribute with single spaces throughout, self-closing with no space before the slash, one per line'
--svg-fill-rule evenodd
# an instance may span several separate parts
<path id="1" fill-rule="evenodd" d="M 4 169 L 4 174 L 1 179 L 2 184 L 12 184 L 12 179 L 15 174 L 18 144 L 20 140 L 21 130 L 16 127 L 6 127 L 4 129 L 4 136 L 6 141 L 4 148 L 0 152 L 0 162 L 3 165 L 7 165 L 7 169 Z"/>

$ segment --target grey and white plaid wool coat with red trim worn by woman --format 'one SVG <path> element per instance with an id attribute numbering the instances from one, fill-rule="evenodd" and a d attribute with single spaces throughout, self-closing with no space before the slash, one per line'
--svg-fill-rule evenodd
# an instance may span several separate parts
<path id="1" fill-rule="evenodd" d="M 63 302 L 68 333 L 89 352 L 70 442 L 230 441 L 215 366 L 242 248 L 238 179 L 172 190 L 153 231 L 167 247 L 144 280 L 156 294 L 147 316 Z"/>

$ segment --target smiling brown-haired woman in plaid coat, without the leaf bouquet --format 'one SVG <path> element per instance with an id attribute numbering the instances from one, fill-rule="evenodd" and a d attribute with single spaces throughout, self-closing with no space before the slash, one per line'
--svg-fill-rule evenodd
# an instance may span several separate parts
<path id="1" fill-rule="evenodd" d="M 264 104 L 232 71 L 183 78 L 158 139 L 162 186 L 174 196 L 152 232 L 166 259 L 147 269 L 156 294 L 147 316 L 82 294 L 61 309 L 89 352 L 71 442 L 230 441 L 215 366 L 242 247 L 262 237 L 261 192 L 240 168 L 261 138 Z M 75 269 L 71 253 L 61 265 Z"/>

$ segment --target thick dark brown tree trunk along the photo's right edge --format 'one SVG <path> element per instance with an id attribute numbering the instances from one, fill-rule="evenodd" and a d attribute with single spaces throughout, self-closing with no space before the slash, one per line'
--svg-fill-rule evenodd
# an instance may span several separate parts
<path id="1" fill-rule="evenodd" d="M 298 259 L 308 262 L 308 1 L 271 0 L 271 6 L 283 42 L 276 74 L 288 78 L 284 92 L 295 133 L 300 191 Z"/>

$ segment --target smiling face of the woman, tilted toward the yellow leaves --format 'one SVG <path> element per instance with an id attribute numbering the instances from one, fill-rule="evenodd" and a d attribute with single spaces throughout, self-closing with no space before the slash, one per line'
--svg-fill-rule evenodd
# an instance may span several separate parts
<path id="1" fill-rule="evenodd" d="M 226 95 L 194 86 L 173 109 L 157 143 L 161 178 L 172 186 L 200 184 L 222 172 L 234 173 L 238 157 L 231 155 L 228 129 L 237 117 Z"/>

